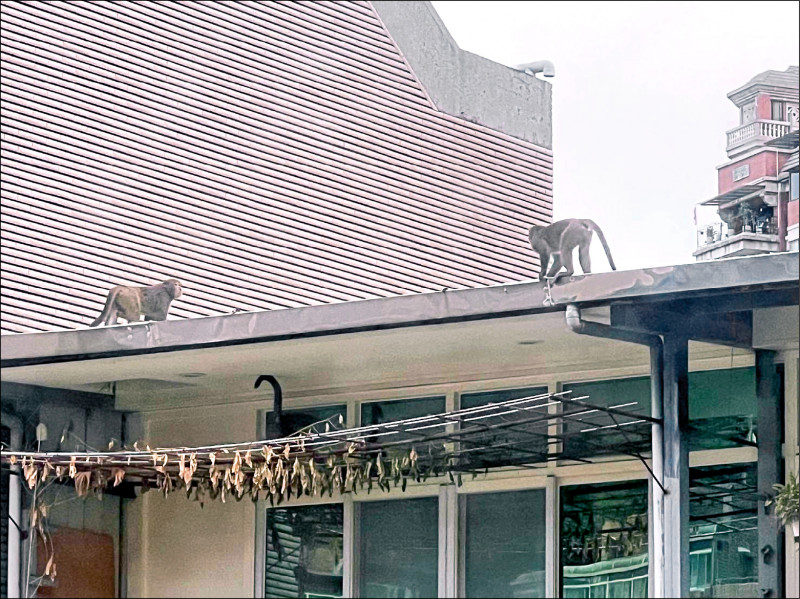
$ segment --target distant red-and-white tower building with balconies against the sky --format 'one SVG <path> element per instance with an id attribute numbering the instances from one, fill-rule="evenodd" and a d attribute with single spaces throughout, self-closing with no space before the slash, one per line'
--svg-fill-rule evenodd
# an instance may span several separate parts
<path id="1" fill-rule="evenodd" d="M 800 70 L 765 71 L 728 94 L 739 126 L 717 167 L 720 221 L 697 232 L 697 260 L 798 249 Z"/>

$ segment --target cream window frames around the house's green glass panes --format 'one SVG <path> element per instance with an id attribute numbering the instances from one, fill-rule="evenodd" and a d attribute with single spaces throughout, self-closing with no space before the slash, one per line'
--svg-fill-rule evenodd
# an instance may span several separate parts
<path id="1" fill-rule="evenodd" d="M 731 359 L 727 363 L 717 360 L 712 363 L 704 363 L 703 368 L 697 365 L 692 367 L 690 372 L 729 370 L 745 368 L 753 365 L 751 355 L 738 356 L 734 361 Z M 583 376 L 581 376 L 583 375 Z M 602 376 L 605 375 L 605 376 Z M 431 385 L 425 391 L 416 393 L 403 393 L 403 389 L 392 389 L 384 392 L 370 393 L 358 392 L 336 397 L 327 396 L 325 401 L 319 404 L 314 399 L 304 398 L 301 405 L 292 406 L 292 409 L 306 409 L 310 407 L 326 407 L 347 405 L 347 426 L 348 428 L 360 426 L 361 406 L 373 402 L 403 401 L 413 399 L 424 399 L 433 397 L 445 398 L 445 409 L 454 410 L 460 407 L 460 398 L 464 394 L 482 392 L 503 392 L 523 388 L 544 387 L 548 391 L 555 393 L 562 390 L 562 386 L 572 383 L 591 383 L 598 381 L 611 381 L 617 379 L 636 378 L 649 376 L 648 372 L 643 372 L 643 368 L 626 368 L 614 372 L 585 372 L 585 373 L 562 373 L 557 378 L 543 378 L 542 376 L 521 377 L 509 384 L 495 385 L 497 381 L 474 381 L 472 383 L 453 383 L 451 385 Z M 407 391 L 407 390 L 406 390 Z M 322 400 L 322 398 L 319 398 Z M 263 433 L 266 425 L 266 416 L 259 410 L 258 434 Z M 556 425 L 554 425 L 556 426 Z M 690 467 L 737 464 L 746 462 L 756 462 L 757 451 L 752 447 L 735 447 L 722 449 L 696 450 L 690 452 Z M 334 497 L 303 497 L 293 499 L 290 504 L 283 504 L 281 507 L 305 506 L 319 503 L 342 503 L 344 506 L 343 522 L 343 545 L 344 545 L 344 573 L 343 573 L 343 595 L 345 597 L 357 597 L 359 589 L 358 575 L 360 564 L 358 563 L 358 547 L 360 546 L 359 511 L 360 506 L 369 501 L 394 501 L 402 499 L 412 499 L 415 497 L 438 496 L 439 509 L 439 597 L 454 597 L 465 595 L 464 584 L 464 564 L 463 556 L 466 543 L 464 526 L 465 518 L 461 517 L 462 509 L 465 507 L 466 497 L 470 494 L 502 493 L 509 491 L 526 491 L 535 489 L 545 490 L 545 534 L 546 534 L 546 553 L 545 553 L 545 596 L 555 597 L 560 589 L 561 577 L 561 557 L 560 557 L 560 488 L 576 484 L 591 484 L 602 482 L 621 482 L 626 480 L 648 480 L 648 473 L 636 459 L 620 459 L 611 457 L 608 461 L 598 460 L 593 464 L 564 464 L 548 463 L 546 466 L 536 471 L 520 471 L 519 469 L 498 468 L 490 471 L 487 475 L 479 475 L 471 480 L 464 477 L 461 487 L 447 484 L 442 478 L 428 479 L 425 483 L 411 483 L 404 493 L 383 493 L 373 492 L 369 495 L 352 493 Z M 652 482 L 650 482 L 652 486 Z M 262 503 L 256 504 L 256 544 L 255 544 L 255 596 L 264 596 L 265 586 L 265 567 L 266 567 L 266 510 L 271 506 Z M 652 526 L 648 526 L 652 530 Z"/>

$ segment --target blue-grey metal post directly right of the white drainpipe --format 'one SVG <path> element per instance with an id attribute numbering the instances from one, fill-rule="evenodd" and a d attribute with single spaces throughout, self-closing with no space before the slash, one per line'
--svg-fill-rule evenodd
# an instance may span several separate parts
<path id="1" fill-rule="evenodd" d="M 664 596 L 689 596 L 689 341 L 664 336 Z"/>

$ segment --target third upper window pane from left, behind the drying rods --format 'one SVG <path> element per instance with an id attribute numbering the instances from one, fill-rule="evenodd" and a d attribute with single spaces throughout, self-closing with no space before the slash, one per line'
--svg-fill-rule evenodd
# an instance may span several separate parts
<path id="1" fill-rule="evenodd" d="M 522 399 L 545 393 L 547 393 L 547 387 L 528 387 L 523 389 L 465 393 L 461 396 L 461 407 L 475 408 L 489 403 Z M 534 404 L 532 403 L 530 405 Z M 476 416 L 477 415 L 479 414 L 476 414 Z M 501 424 L 503 422 L 510 423 L 520 420 L 530 421 L 540 416 L 547 416 L 546 406 L 498 416 L 492 419 L 492 424 Z M 469 425 L 470 423 L 466 422 L 466 426 Z M 547 438 L 544 436 L 547 434 L 547 425 L 547 420 L 542 419 L 540 421 L 526 422 L 515 428 L 499 428 L 493 431 L 490 434 L 491 436 L 482 435 L 479 441 L 480 444 L 488 446 L 490 449 L 482 452 L 482 456 L 485 457 L 480 463 L 476 463 L 475 467 L 491 468 L 514 463 L 535 463 L 543 461 L 543 459 L 547 457 Z M 469 444 L 465 441 L 462 443 L 462 446 L 469 447 Z"/>

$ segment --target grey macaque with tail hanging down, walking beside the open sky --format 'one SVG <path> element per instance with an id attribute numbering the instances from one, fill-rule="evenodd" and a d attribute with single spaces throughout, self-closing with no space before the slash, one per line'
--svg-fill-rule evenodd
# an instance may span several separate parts
<path id="1" fill-rule="evenodd" d="M 564 273 L 565 275 L 572 275 L 575 272 L 572 266 L 572 252 L 576 247 L 578 248 L 578 259 L 584 274 L 592 272 L 589 259 L 589 244 L 592 242 L 593 231 L 597 231 L 597 236 L 600 238 L 600 243 L 603 244 L 603 249 L 606 251 L 611 268 L 617 270 L 600 227 L 588 218 L 567 218 L 545 227 L 534 225 L 530 229 L 531 246 L 539 254 L 541 262 L 539 279 L 557 278 L 562 267 L 567 269 Z M 550 264 L 551 256 L 553 257 L 553 266 L 548 270 L 547 267 Z M 543 275 L 542 273 L 545 272 L 547 274 Z"/>

